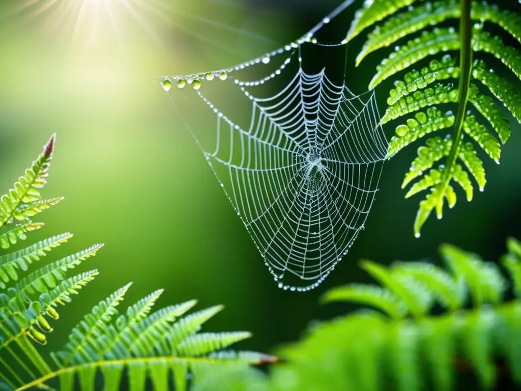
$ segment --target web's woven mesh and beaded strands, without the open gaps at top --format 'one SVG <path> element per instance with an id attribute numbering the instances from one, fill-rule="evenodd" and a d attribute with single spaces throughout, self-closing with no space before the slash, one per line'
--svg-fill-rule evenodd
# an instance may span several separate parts
<path id="1" fill-rule="evenodd" d="M 347 3 L 351 4 L 343 5 Z M 297 291 L 318 286 L 364 229 L 388 150 L 374 91 L 357 96 L 345 84 L 331 82 L 325 68 L 312 75 L 303 70 L 301 45 L 318 44 L 312 39 L 316 31 L 306 34 L 303 42 L 213 72 L 222 76 L 291 51 L 266 77 L 229 78 L 251 101 L 247 128 L 208 100 L 199 91 L 200 83 L 194 84 L 216 116 L 215 148 L 205 150 L 191 130 L 192 135 L 278 286 Z M 250 91 L 280 75 L 294 57 L 299 66 L 280 92 L 264 98 Z M 208 73 L 170 78 L 179 86 L 179 80 L 193 82 L 204 75 Z M 284 283 L 288 274 L 304 286 Z"/>

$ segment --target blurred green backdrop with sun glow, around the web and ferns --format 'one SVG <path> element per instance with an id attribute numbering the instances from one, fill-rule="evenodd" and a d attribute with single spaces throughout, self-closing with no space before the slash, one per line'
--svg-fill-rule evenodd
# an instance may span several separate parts
<path id="1" fill-rule="evenodd" d="M 43 10 L 51 2 L 42 0 L 10 13 L 24 1 L 0 6 L 0 189 L 56 132 L 44 197 L 65 200 L 39 216 L 46 226 L 31 240 L 75 234 L 43 262 L 106 243 L 82 265 L 101 275 L 64 311 L 49 349 L 63 345 L 95 303 L 133 281 L 127 303 L 160 287 L 166 291 L 158 305 L 224 303 L 226 311 L 208 328 L 252 331 L 242 347 L 270 351 L 298 338 L 313 319 L 350 309 L 320 307 L 317 299 L 333 286 L 367 281 L 361 258 L 436 260 L 438 245 L 451 242 L 496 260 L 507 236 L 521 238 L 516 124 L 501 165 L 485 160 L 485 192 L 470 203 L 460 196 L 441 221 L 429 219 L 420 239 L 412 226 L 421 196 L 404 200 L 400 189 L 420 144 L 398 154 L 383 168 L 366 229 L 336 270 L 311 292 L 281 290 L 153 77 L 261 55 L 301 36 L 340 0 L 114 1 L 110 9 L 101 0 L 60 0 Z M 353 57 L 362 42 L 351 44 Z M 351 75 L 352 89 L 365 91 L 383 53 Z M 377 90 L 382 111 L 389 85 Z M 390 137 L 393 126 L 386 132 Z"/>

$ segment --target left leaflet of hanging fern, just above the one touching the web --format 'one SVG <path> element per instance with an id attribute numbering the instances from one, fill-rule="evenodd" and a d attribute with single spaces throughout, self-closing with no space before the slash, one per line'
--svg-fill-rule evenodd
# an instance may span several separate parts
<path id="1" fill-rule="evenodd" d="M 459 97 L 459 91 L 454 88 L 454 84 L 440 83 L 437 84 L 435 88 L 429 87 L 423 91 L 416 91 L 412 95 L 407 95 L 405 98 L 402 98 L 395 104 L 389 106 L 382 117 L 381 123 L 387 124 L 392 119 L 413 113 L 426 106 L 451 102 L 455 103 L 458 101 Z M 448 120 L 448 122 L 450 121 Z"/>

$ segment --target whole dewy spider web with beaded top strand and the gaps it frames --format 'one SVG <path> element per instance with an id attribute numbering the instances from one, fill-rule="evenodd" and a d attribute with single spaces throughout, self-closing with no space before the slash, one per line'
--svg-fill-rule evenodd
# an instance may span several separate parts
<path id="1" fill-rule="evenodd" d="M 348 253 L 387 155 L 375 92 L 345 85 L 347 45 L 315 37 L 351 3 L 249 62 L 160 77 L 283 289 L 315 288 Z"/>

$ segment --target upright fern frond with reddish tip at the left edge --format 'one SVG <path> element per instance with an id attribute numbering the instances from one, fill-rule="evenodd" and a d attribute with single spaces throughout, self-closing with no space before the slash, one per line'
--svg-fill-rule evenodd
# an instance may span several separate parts
<path id="1" fill-rule="evenodd" d="M 0 227 L 10 223 L 14 217 L 20 218 L 20 214 L 17 214 L 20 205 L 41 199 L 40 189 L 46 183 L 45 178 L 52 160 L 54 144 L 55 135 L 44 145 L 43 152 L 33 162 L 31 168 L 26 170 L 25 175 L 13 185 L 13 189 L 0 198 Z"/>

